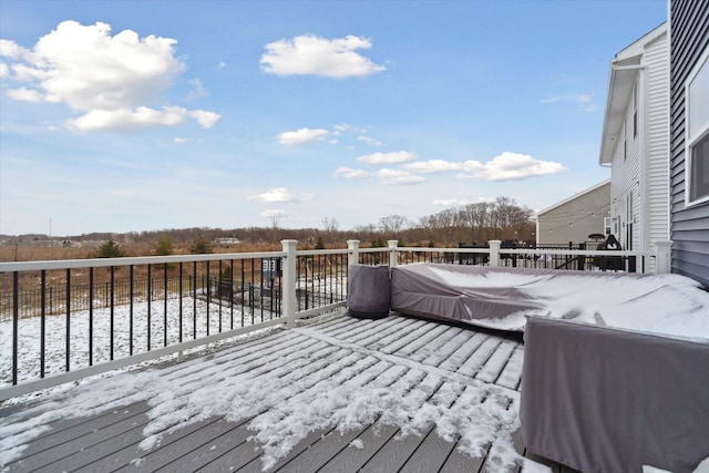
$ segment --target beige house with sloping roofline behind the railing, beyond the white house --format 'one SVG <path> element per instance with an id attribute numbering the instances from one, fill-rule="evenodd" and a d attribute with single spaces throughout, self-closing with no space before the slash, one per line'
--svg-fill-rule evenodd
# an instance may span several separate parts
<path id="1" fill-rule="evenodd" d="M 592 234 L 614 233 L 609 217 L 610 179 L 537 212 L 536 243 L 585 243 Z"/>

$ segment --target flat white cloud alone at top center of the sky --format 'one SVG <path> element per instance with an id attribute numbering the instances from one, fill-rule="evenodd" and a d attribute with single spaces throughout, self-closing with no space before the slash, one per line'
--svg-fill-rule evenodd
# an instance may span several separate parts
<path id="1" fill-rule="evenodd" d="M 328 40 L 304 34 L 266 44 L 260 64 L 264 72 L 277 75 L 364 76 L 386 70 L 356 52 L 371 45 L 369 40 L 354 35 Z"/>

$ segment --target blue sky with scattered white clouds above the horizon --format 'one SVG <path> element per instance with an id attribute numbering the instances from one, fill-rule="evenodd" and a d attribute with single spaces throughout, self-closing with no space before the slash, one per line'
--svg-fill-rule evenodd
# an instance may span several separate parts
<path id="1" fill-rule="evenodd" d="M 340 229 L 598 165 L 665 0 L 0 3 L 0 234 Z"/>

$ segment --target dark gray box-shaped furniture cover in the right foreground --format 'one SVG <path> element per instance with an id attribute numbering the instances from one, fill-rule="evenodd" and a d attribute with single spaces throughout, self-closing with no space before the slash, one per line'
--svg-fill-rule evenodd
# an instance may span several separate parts
<path id="1" fill-rule="evenodd" d="M 691 472 L 709 457 L 709 341 L 530 318 L 526 448 L 583 472 Z"/>

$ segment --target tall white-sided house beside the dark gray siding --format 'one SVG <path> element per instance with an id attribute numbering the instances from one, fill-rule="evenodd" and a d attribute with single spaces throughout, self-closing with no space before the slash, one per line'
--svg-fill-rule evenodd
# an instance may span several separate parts
<path id="1" fill-rule="evenodd" d="M 599 163 L 609 166 L 610 217 L 624 249 L 669 239 L 667 23 L 610 61 Z"/>

